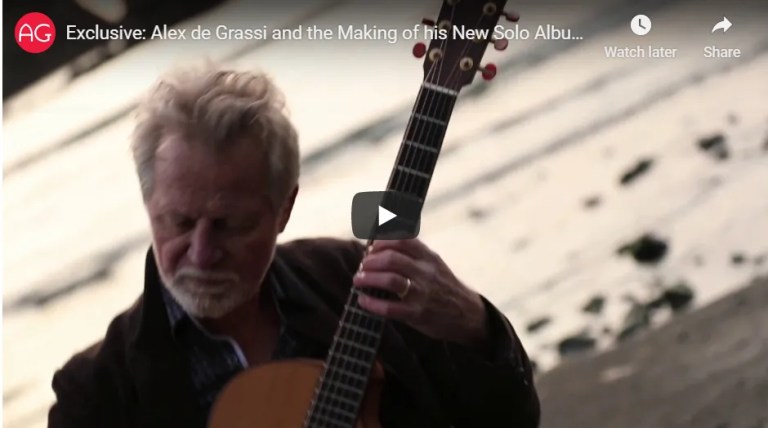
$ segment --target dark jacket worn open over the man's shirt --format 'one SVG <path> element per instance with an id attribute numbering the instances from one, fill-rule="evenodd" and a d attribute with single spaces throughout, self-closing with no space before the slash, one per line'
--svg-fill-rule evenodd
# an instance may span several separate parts
<path id="1" fill-rule="evenodd" d="M 287 322 L 327 346 L 362 257 L 357 242 L 307 239 L 278 246 L 273 272 L 284 283 Z M 109 325 L 105 338 L 53 377 L 49 428 L 203 428 L 186 359 L 172 340 L 152 251 L 144 293 Z M 515 427 L 539 423 L 531 366 L 511 325 L 489 302 L 502 355 L 480 355 L 388 323 L 379 358 L 386 386 L 384 427 Z"/>

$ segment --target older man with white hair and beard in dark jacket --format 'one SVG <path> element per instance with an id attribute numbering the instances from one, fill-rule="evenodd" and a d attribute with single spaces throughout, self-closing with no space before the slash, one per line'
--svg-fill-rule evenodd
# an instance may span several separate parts
<path id="1" fill-rule="evenodd" d="M 246 367 L 324 359 L 352 287 L 391 320 L 384 427 L 536 427 L 531 367 L 504 316 L 418 240 L 277 244 L 298 193 L 296 132 L 268 77 L 162 79 L 133 153 L 152 230 L 144 289 L 53 379 L 49 426 L 204 427 Z M 256 421 L 253 426 L 259 426 Z"/>

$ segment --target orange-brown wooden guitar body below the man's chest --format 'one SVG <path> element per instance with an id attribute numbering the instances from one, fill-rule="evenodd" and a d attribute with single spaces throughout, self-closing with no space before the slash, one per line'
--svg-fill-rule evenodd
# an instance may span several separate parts
<path id="1" fill-rule="evenodd" d="M 300 428 L 323 373 L 323 361 L 286 360 L 245 370 L 219 395 L 209 428 Z M 356 428 L 380 428 L 384 371 L 374 366 Z"/>

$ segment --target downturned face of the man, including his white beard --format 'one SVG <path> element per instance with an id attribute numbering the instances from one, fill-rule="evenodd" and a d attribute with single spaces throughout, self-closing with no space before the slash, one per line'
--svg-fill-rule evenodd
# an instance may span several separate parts
<path id="1" fill-rule="evenodd" d="M 214 155 L 181 137 L 158 148 L 147 211 L 163 283 L 198 318 L 220 318 L 259 289 L 295 192 L 275 206 L 263 156 Z"/>

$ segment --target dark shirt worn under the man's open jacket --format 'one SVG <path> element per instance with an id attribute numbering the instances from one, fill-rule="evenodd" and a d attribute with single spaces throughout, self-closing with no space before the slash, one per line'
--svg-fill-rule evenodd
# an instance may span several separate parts
<path id="1" fill-rule="evenodd" d="M 270 274 L 269 281 L 269 285 L 279 290 L 280 284 L 274 275 Z M 197 320 L 184 312 L 165 287 L 163 297 L 173 337 L 189 361 L 190 377 L 198 405 L 208 417 L 219 392 L 240 371 L 248 367 L 248 362 L 234 339 L 207 332 Z M 299 335 L 285 328 L 286 323 L 279 305 L 278 312 L 281 327 L 273 360 L 311 357 L 322 353 L 322 350 L 316 349 L 308 341 L 302 340 Z"/>

